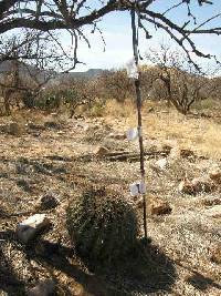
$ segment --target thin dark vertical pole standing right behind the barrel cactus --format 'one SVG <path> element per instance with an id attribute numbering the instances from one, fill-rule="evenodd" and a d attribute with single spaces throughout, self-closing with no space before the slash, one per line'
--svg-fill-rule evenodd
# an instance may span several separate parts
<path id="1" fill-rule="evenodd" d="M 139 134 L 139 151 L 140 151 L 140 174 L 141 183 L 145 185 L 145 157 L 144 157 L 144 141 L 143 141 L 143 130 L 141 130 L 141 91 L 140 91 L 140 71 L 139 65 L 139 55 L 138 55 L 138 34 L 136 29 L 136 11 L 131 10 L 131 31 L 133 31 L 133 50 L 134 50 L 134 60 L 137 67 L 138 76 L 135 79 L 135 90 L 137 98 L 137 119 L 138 119 L 138 134 Z M 144 232 L 145 238 L 147 239 L 147 210 L 146 210 L 146 195 L 143 193 L 143 205 L 144 205 Z"/>

